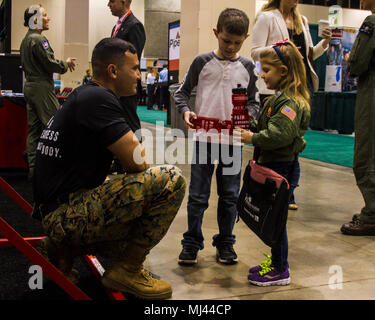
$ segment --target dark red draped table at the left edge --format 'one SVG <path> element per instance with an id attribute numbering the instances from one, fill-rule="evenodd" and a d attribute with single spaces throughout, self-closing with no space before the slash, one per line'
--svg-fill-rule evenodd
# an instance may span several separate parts
<path id="1" fill-rule="evenodd" d="M 27 168 L 27 113 L 23 97 L 0 97 L 0 169 Z"/>

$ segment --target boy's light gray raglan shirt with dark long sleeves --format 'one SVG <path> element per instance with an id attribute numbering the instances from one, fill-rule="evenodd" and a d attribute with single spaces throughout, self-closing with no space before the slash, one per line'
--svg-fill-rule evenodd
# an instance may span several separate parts
<path id="1" fill-rule="evenodd" d="M 223 60 L 214 52 L 198 55 L 184 81 L 174 94 L 177 110 L 189 111 L 189 98 L 197 88 L 194 112 L 197 116 L 231 120 L 232 89 L 238 84 L 247 88 L 248 108 L 253 118 L 259 113 L 258 89 L 254 63 L 247 58 Z"/>

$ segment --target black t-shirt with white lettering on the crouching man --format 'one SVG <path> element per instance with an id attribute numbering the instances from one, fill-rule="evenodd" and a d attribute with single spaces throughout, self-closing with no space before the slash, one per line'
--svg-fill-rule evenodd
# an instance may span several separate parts
<path id="1" fill-rule="evenodd" d="M 92 82 L 75 89 L 38 142 L 35 203 L 54 203 L 102 184 L 113 160 L 107 147 L 130 130 L 111 90 Z"/>

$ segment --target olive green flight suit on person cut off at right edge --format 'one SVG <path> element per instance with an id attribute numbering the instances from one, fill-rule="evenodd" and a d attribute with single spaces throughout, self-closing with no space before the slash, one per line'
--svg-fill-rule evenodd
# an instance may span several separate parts
<path id="1" fill-rule="evenodd" d="M 350 58 L 350 76 L 358 76 L 353 171 L 365 201 L 359 219 L 375 223 L 375 14 L 363 22 Z"/>

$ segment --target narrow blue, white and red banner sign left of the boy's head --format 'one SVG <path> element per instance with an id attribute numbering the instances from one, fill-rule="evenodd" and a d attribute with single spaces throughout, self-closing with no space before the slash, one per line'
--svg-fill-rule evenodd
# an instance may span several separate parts
<path id="1" fill-rule="evenodd" d="M 178 82 L 180 69 L 180 21 L 169 23 L 169 83 Z"/>

